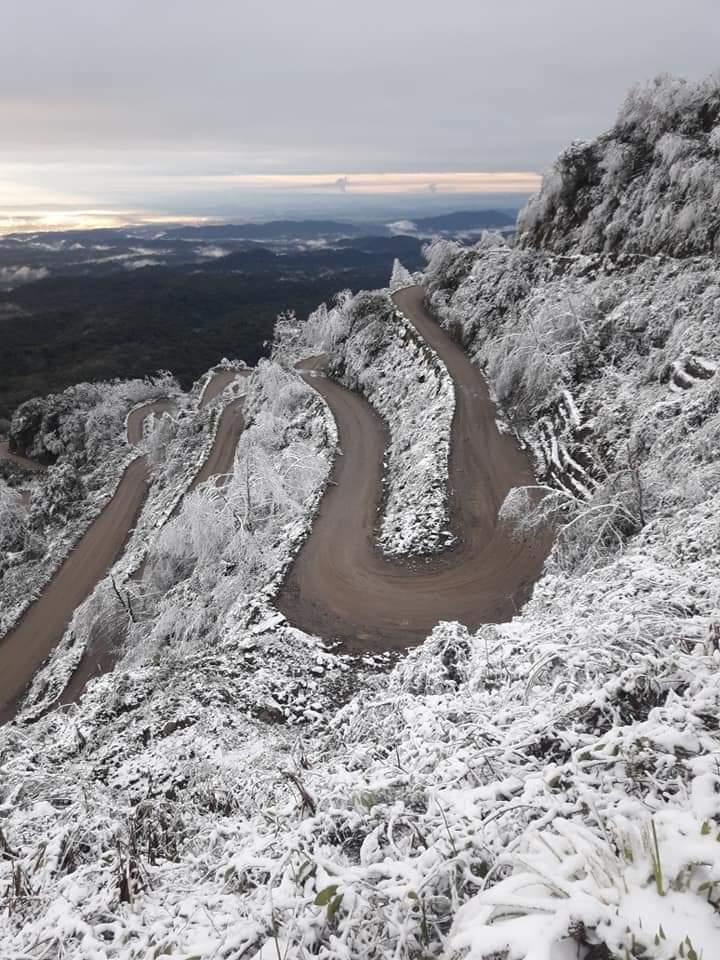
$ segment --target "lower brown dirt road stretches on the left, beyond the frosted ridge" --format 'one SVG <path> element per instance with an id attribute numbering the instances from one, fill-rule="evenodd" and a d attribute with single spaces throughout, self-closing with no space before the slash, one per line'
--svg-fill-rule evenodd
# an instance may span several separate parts
<path id="1" fill-rule="evenodd" d="M 241 371 L 241 376 L 249 373 Z M 216 399 L 238 371 L 220 370 L 208 383 L 200 402 L 205 407 Z M 215 472 L 227 473 L 242 432 L 241 400 L 231 401 L 221 414 L 208 458 L 194 478 L 191 489 Z M 137 446 L 147 418 L 173 412 L 172 400 L 156 400 L 131 411 L 127 439 Z M 60 642 L 76 608 L 92 593 L 120 557 L 130 531 L 145 502 L 149 486 L 147 457 L 136 457 L 127 467 L 110 502 L 93 521 L 38 599 L 16 626 L 0 639 L 0 723 L 11 719 L 39 667 Z M 83 657 L 70 686 L 82 690 L 97 664 Z M 68 688 L 69 689 L 69 688 Z"/>

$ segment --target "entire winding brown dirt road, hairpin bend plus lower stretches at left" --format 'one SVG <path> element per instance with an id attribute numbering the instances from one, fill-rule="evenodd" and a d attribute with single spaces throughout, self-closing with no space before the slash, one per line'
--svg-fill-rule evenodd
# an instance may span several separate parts
<path id="1" fill-rule="evenodd" d="M 281 589 L 278 606 L 291 623 L 339 639 L 351 653 L 421 643 L 441 620 L 459 620 L 475 628 L 511 619 L 529 597 L 550 547 L 549 535 L 516 539 L 498 524 L 508 491 L 532 484 L 534 478 L 515 439 L 498 430 L 480 371 L 429 315 L 422 288 L 402 290 L 394 300 L 454 381 L 450 515 L 458 542 L 426 559 L 401 562 L 382 556 L 375 529 L 387 446 L 385 425 L 358 394 L 318 371 L 306 372 L 306 381 L 332 410 L 341 452 L 333 483 Z M 212 402 L 237 376 L 237 371 L 217 371 L 200 405 Z M 168 411 L 171 404 L 161 400 L 133 411 L 128 441 L 139 443 L 147 416 Z M 189 490 L 229 472 L 243 428 L 242 400 L 233 400 L 221 414 L 211 452 Z M 12 714 L 76 607 L 120 555 L 147 487 L 147 458 L 139 456 L 40 598 L 0 641 L 0 719 Z M 88 652 L 63 702 L 76 699 L 87 680 L 107 668 L 106 655 L 102 650 Z"/>

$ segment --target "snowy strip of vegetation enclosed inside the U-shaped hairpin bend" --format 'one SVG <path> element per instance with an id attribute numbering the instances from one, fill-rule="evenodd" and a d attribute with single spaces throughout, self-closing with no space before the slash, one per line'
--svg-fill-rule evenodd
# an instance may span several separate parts
<path id="1" fill-rule="evenodd" d="M 398 265 L 398 276 L 403 270 Z M 455 393 L 435 351 L 382 292 L 341 295 L 303 325 L 279 324 L 278 334 L 286 356 L 325 354 L 329 373 L 366 397 L 387 425 L 383 552 L 413 556 L 446 546 Z"/>

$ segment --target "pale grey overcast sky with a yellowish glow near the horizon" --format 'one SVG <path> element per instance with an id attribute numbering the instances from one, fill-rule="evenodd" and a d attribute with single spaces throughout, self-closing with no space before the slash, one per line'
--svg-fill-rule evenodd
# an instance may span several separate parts
<path id="1" fill-rule="evenodd" d="M 634 82 L 720 67 L 718 0 L 3 0 L 1 13 L 5 207 L 222 196 L 242 189 L 234 175 L 348 176 L 352 190 L 358 173 L 537 172 L 612 123 Z"/>

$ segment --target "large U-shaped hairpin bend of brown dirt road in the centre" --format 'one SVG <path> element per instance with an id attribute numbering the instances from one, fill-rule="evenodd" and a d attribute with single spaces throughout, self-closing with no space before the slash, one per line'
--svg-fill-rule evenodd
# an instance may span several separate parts
<path id="1" fill-rule="evenodd" d="M 550 546 L 547 537 L 514 540 L 497 525 L 508 490 L 534 480 L 516 441 L 497 429 L 480 371 L 428 314 L 421 288 L 394 299 L 455 383 L 450 486 L 460 543 L 430 560 L 382 557 L 374 529 L 385 426 L 359 395 L 307 374 L 335 416 L 342 455 L 278 605 L 291 623 L 340 639 L 353 653 L 418 644 L 440 620 L 469 627 L 509 620 L 529 597 Z"/>

